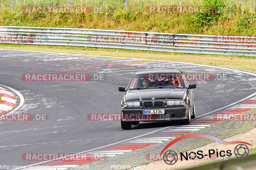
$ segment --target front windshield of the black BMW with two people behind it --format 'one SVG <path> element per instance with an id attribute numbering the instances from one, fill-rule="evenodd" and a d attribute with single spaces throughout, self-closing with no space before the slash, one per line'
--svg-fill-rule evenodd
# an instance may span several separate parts
<path id="1" fill-rule="evenodd" d="M 129 89 L 185 88 L 180 73 L 137 74 L 132 78 Z"/>

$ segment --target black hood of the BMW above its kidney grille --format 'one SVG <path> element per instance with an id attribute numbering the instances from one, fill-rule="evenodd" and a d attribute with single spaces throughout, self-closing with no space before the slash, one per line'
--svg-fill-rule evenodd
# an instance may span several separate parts
<path id="1" fill-rule="evenodd" d="M 140 89 L 129 90 L 125 94 L 126 102 L 182 99 L 186 89 Z"/>

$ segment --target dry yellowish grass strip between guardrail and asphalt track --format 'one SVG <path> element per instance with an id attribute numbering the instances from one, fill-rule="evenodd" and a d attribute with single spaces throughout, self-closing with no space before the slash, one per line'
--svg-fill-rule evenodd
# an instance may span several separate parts
<path id="1" fill-rule="evenodd" d="M 0 44 L 0 48 L 187 62 L 210 66 L 226 67 L 256 73 L 256 57 L 251 56 L 188 54 L 114 48 L 46 46 L 24 44 Z"/>

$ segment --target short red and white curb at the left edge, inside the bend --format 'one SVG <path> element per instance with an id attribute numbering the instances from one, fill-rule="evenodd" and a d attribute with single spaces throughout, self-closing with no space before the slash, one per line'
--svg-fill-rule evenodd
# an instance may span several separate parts
<path id="1" fill-rule="evenodd" d="M 13 107 L 16 106 L 17 99 L 13 93 L 9 92 L 8 90 L 4 89 L 0 86 L 0 116 L 1 114 L 5 113 L 6 111 L 12 110 Z"/>

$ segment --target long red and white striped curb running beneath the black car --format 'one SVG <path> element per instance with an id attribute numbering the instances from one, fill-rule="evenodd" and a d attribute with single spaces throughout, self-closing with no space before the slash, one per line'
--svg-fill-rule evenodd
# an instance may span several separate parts
<path id="1" fill-rule="evenodd" d="M 177 125 L 169 127 L 169 129 L 164 129 L 163 131 L 157 131 L 155 133 L 142 136 L 141 138 L 134 138 L 129 141 L 125 141 L 122 143 L 118 143 L 116 145 L 109 145 L 108 147 L 104 147 L 92 152 L 80 152 L 91 155 L 102 155 L 98 159 L 94 158 L 86 158 L 86 160 L 81 159 L 71 159 L 71 160 L 54 160 L 54 161 L 46 161 L 44 164 L 40 166 L 44 166 L 44 168 L 36 168 L 37 170 L 43 169 L 52 169 L 58 167 L 59 169 L 68 169 L 69 167 L 74 167 L 76 165 L 84 165 L 90 162 L 95 162 L 100 159 L 105 159 L 107 157 L 116 156 L 119 154 L 123 154 L 125 152 L 132 152 L 132 150 L 137 150 L 143 147 L 148 147 L 149 145 L 156 145 L 157 143 L 161 143 L 166 140 L 170 140 L 173 138 L 180 137 L 182 135 L 189 134 L 194 131 L 198 131 L 202 128 L 210 126 L 212 124 L 216 124 L 220 122 L 220 120 L 214 118 L 214 114 L 227 114 L 227 113 L 244 113 L 245 111 L 252 110 L 256 108 L 256 96 L 246 100 L 242 103 L 237 103 L 233 106 L 230 106 L 224 110 L 217 111 L 211 113 L 210 115 L 204 116 L 200 119 L 192 120 L 189 125 Z M 29 168 L 25 168 L 24 170 L 28 170 Z"/>

